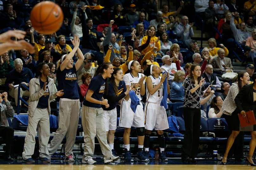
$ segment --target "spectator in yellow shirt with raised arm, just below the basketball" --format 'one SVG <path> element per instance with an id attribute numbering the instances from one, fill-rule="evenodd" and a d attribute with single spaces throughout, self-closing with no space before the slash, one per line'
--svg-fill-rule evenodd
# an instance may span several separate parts
<path id="1" fill-rule="evenodd" d="M 30 29 L 30 35 L 31 35 L 31 44 L 34 44 L 35 47 L 35 53 L 34 53 L 34 60 L 38 61 L 38 53 L 41 49 L 45 48 L 45 36 L 43 34 L 39 34 L 37 36 L 38 43 L 34 40 L 34 28 L 32 27 Z"/>

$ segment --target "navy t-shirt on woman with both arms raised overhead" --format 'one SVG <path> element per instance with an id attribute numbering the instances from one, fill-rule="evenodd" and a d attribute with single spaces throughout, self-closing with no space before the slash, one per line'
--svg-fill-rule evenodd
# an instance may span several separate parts
<path id="1" fill-rule="evenodd" d="M 75 65 L 73 65 L 71 69 L 65 68 L 63 71 L 60 71 L 59 67 L 56 77 L 58 81 L 58 91 L 64 90 L 64 95 L 61 98 L 79 99 Z"/>

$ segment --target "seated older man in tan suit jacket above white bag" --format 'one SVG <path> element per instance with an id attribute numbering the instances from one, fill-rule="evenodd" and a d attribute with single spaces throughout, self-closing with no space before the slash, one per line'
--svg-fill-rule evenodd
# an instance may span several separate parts
<path id="1" fill-rule="evenodd" d="M 212 61 L 213 72 L 222 74 L 226 71 L 233 71 L 231 60 L 230 58 L 225 57 L 225 51 L 223 49 L 219 49 L 217 53 L 218 56 L 215 57 Z"/>

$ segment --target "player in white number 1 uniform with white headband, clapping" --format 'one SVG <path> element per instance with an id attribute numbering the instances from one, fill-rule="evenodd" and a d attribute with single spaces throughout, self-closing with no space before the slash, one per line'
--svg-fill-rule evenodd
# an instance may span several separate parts
<path id="1" fill-rule="evenodd" d="M 150 135 L 152 130 L 156 130 L 158 139 L 159 139 L 159 147 L 160 147 L 160 159 L 162 161 L 168 161 L 165 156 L 165 137 L 163 130 L 168 129 L 168 119 L 164 106 L 160 106 L 160 103 L 163 98 L 163 83 L 167 74 L 163 74 L 163 76 L 159 76 L 162 73 L 162 70 L 157 65 L 150 65 L 146 70 L 147 80 L 147 102 L 145 104 L 144 109 L 144 122 L 145 122 L 145 140 L 144 140 L 144 148 L 145 148 L 145 156 L 149 155 L 149 143 L 150 143 Z M 168 79 L 168 78 L 167 78 Z M 167 83 L 167 94 L 170 94 L 170 87 Z"/>

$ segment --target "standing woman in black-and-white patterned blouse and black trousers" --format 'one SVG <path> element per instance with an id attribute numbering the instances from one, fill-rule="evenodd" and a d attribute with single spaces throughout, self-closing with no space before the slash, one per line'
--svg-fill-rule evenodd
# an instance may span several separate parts
<path id="1" fill-rule="evenodd" d="M 205 104 L 209 98 L 214 94 L 214 91 L 210 91 L 210 95 L 200 100 L 204 91 L 204 79 L 201 77 L 201 67 L 197 64 L 193 64 L 190 69 L 190 77 L 184 80 L 184 122 L 185 122 L 185 134 L 183 144 L 183 161 L 191 161 L 197 163 L 195 157 L 199 147 L 199 135 L 200 135 L 200 121 L 201 111 L 200 105 Z"/>

